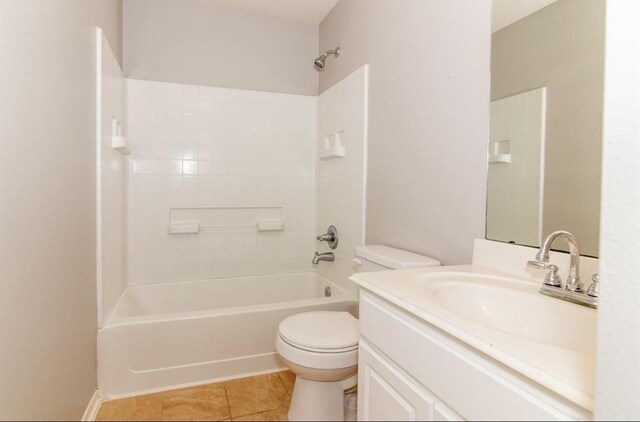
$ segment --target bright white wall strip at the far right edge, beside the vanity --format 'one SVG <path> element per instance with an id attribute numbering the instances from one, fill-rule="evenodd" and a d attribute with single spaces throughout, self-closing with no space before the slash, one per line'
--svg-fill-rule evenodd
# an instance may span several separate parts
<path id="1" fill-rule="evenodd" d="M 595 409 L 599 420 L 640 417 L 639 21 L 639 2 L 607 2 Z"/>

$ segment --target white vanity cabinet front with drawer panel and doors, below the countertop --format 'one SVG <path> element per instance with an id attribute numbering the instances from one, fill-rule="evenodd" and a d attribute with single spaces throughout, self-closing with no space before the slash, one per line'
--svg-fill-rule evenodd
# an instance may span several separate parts
<path id="1" fill-rule="evenodd" d="M 362 290 L 358 420 L 585 420 L 587 410 Z"/>

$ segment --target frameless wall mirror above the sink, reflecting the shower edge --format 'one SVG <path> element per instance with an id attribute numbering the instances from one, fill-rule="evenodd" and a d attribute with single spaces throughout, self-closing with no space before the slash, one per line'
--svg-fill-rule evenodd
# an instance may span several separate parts
<path id="1" fill-rule="evenodd" d="M 493 7 L 487 239 L 598 256 L 605 0 Z"/>

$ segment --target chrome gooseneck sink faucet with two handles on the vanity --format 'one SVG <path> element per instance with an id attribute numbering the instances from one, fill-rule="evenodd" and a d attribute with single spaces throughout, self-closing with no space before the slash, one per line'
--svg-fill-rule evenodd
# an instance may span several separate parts
<path id="1" fill-rule="evenodd" d="M 569 244 L 569 276 L 567 282 L 562 286 L 562 279 L 558 275 L 558 267 L 549 264 L 549 252 L 551 246 L 557 239 L 564 239 Z M 540 293 L 557 299 L 577 303 L 579 305 L 598 307 L 598 281 L 594 278 L 594 283 L 589 287 L 587 293 L 583 291 L 582 280 L 580 279 L 580 249 L 574 235 L 566 231 L 556 231 L 551 233 L 542 242 L 540 250 L 536 254 L 534 261 L 527 262 L 527 266 L 538 270 L 548 270 L 544 283 L 540 288 Z"/>

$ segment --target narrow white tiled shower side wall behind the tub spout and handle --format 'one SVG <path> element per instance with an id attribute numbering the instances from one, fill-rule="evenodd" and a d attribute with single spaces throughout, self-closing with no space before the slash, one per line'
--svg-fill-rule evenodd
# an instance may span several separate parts
<path id="1" fill-rule="evenodd" d="M 338 229 L 334 262 L 321 262 L 318 272 L 346 288 L 355 297 L 358 288 L 349 280 L 355 248 L 364 244 L 365 177 L 367 164 L 368 69 L 363 66 L 318 98 L 317 233 L 329 225 Z M 327 135 L 341 132 L 344 158 L 322 159 Z M 330 248 L 316 242 L 320 252 Z"/>

